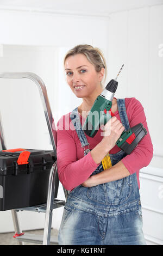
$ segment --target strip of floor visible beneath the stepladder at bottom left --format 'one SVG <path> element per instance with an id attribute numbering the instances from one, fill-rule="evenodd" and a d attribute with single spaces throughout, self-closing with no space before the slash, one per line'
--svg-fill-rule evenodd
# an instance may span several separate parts
<path id="1" fill-rule="evenodd" d="M 24 231 L 24 233 L 43 235 L 43 229 Z M 14 233 L 0 233 L 0 245 L 17 245 L 17 240 L 13 238 Z M 58 230 L 52 229 L 51 236 L 58 236 Z M 38 243 L 24 242 L 24 245 L 39 245 Z"/>

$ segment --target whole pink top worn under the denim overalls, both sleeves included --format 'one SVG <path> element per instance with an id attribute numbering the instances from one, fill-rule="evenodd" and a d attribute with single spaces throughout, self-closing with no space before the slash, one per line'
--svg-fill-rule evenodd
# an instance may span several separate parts
<path id="1" fill-rule="evenodd" d="M 142 123 L 148 132 L 133 152 L 121 160 L 130 174 L 136 172 L 137 184 L 140 188 L 139 170 L 148 166 L 151 162 L 153 157 L 153 145 L 147 127 L 145 112 L 140 101 L 136 100 L 135 97 L 130 97 L 125 98 L 125 104 L 130 127 Z M 92 159 L 90 152 L 84 156 L 84 149 L 81 147 L 77 132 L 71 123 L 70 113 L 63 115 L 57 123 L 58 175 L 61 184 L 66 190 L 72 190 L 74 187 L 82 184 L 99 165 Z M 114 114 L 116 118 L 121 121 L 118 111 Z M 84 124 L 85 119 L 80 114 L 79 117 L 80 122 Z M 87 141 L 90 143 L 90 149 L 95 148 L 96 145 L 101 142 L 103 138 L 101 132 L 102 130 L 99 129 L 94 138 L 86 135 Z M 115 145 L 109 153 L 115 154 L 120 150 L 121 149 Z"/>

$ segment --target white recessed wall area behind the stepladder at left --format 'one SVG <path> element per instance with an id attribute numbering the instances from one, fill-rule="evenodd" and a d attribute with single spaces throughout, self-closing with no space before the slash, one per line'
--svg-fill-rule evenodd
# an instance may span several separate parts
<path id="1" fill-rule="evenodd" d="M 56 48 L 4 45 L 0 72 L 34 72 L 46 83 L 52 111 Z M 0 109 L 7 149 L 52 149 L 39 90 L 29 79 L 1 79 Z M 21 192 L 21 191 L 20 191 Z M 0 212 L 1 232 L 13 230 L 10 211 Z M 42 228 L 45 216 L 20 212 L 23 229 Z"/>

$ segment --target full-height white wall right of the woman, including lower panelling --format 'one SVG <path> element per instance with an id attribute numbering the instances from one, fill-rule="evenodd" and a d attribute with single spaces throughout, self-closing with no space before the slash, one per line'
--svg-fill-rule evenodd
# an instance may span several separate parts
<path id="1" fill-rule="evenodd" d="M 110 15 L 109 79 L 124 63 L 117 97 L 136 97 L 144 107 L 154 156 L 140 172 L 143 231 L 149 245 L 163 244 L 163 5 Z"/>

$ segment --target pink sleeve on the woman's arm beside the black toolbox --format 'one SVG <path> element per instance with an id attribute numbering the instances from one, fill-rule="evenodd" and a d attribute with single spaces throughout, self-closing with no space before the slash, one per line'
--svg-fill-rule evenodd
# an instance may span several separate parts
<path id="1" fill-rule="evenodd" d="M 59 125 L 57 128 L 57 167 L 59 180 L 64 188 L 72 190 L 82 184 L 98 165 L 92 159 L 90 152 L 77 160 L 76 143 L 71 131 L 67 131 L 64 126 Z"/>

